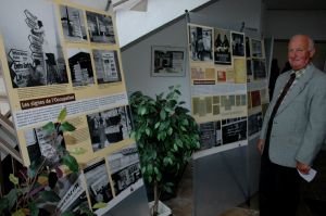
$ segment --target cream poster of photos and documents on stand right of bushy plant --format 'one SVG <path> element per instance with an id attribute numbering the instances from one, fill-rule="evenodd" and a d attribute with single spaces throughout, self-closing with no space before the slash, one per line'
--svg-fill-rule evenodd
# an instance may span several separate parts
<path id="1" fill-rule="evenodd" d="M 211 53 L 200 46 L 201 38 L 211 31 L 213 61 Z M 201 149 L 195 157 L 216 153 L 224 143 L 247 144 L 247 117 L 243 116 L 248 116 L 247 81 L 253 77 L 253 68 L 244 56 L 244 34 L 188 24 L 188 42 L 191 115 L 201 130 Z M 240 134 L 240 138 L 235 134 Z"/>

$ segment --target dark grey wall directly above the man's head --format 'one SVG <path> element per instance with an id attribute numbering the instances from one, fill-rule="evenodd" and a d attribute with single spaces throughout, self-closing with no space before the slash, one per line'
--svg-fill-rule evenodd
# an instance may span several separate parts
<path id="1" fill-rule="evenodd" d="M 310 35 L 314 40 L 326 40 L 326 11 L 286 11 L 265 12 L 265 37 L 289 39 L 296 34 Z"/>

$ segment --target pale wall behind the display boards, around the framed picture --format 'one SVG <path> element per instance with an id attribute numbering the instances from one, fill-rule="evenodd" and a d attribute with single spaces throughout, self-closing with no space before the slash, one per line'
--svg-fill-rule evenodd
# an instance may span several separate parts
<path id="1" fill-rule="evenodd" d="M 241 23 L 246 22 L 246 26 L 256 28 L 260 31 L 261 0 L 247 0 L 246 4 L 242 2 L 241 0 L 220 0 L 198 13 L 204 14 L 202 17 L 210 20 L 210 23 L 215 21 L 215 23 L 223 25 L 215 27 L 239 26 L 240 28 Z M 140 90 L 145 94 L 153 97 L 165 91 L 168 86 L 179 84 L 181 86 L 181 99 L 186 101 L 186 106 L 190 109 L 188 61 L 185 77 L 151 77 L 151 46 L 187 47 L 186 21 L 181 20 L 138 43 L 127 46 L 128 48 L 122 52 L 128 92 Z"/>

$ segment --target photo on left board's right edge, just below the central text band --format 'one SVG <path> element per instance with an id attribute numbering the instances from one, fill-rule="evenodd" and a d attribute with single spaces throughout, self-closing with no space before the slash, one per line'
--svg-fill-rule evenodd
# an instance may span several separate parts
<path id="1" fill-rule="evenodd" d="M 93 152 L 129 138 L 130 118 L 125 106 L 87 115 Z"/>

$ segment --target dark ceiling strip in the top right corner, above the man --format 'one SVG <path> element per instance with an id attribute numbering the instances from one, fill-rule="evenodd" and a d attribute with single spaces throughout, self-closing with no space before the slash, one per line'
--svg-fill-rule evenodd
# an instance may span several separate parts
<path id="1" fill-rule="evenodd" d="M 326 10 L 326 0 L 265 0 L 265 4 L 267 10 Z"/>

